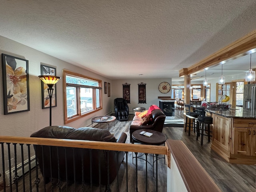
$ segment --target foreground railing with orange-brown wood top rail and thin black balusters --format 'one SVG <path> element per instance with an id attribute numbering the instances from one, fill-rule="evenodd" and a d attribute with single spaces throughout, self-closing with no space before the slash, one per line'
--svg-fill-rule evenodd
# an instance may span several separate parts
<path id="1" fill-rule="evenodd" d="M 137 162 L 138 161 L 138 159 L 137 159 L 138 157 L 137 157 L 137 154 L 138 153 L 142 153 L 142 154 L 144 154 L 146 156 L 147 156 L 147 154 L 153 154 L 155 156 L 166 155 L 167 154 L 166 146 L 137 145 L 137 144 L 114 143 L 114 142 L 96 142 L 96 141 L 87 141 L 87 140 L 66 140 L 66 139 L 52 139 L 52 138 L 31 138 L 31 137 L 0 136 L 0 144 L 2 146 L 2 152 L 4 152 L 4 154 L 2 153 L 2 156 L 5 156 L 4 160 L 2 160 L 2 163 L 3 163 L 3 168 L 2 169 L 4 170 L 5 173 L 7 171 L 7 172 L 10 172 L 10 175 L 12 174 L 12 176 L 9 177 L 9 178 L 13 178 L 14 171 L 11 171 L 11 169 L 10 170 L 9 169 L 6 170 L 4 168 L 4 162 L 6 162 L 6 160 L 8 160 L 9 165 L 11 165 L 10 164 L 10 161 L 11 161 L 10 154 L 12 154 L 12 157 L 13 157 L 13 154 L 16 153 L 16 151 L 15 152 L 10 152 L 10 146 L 12 146 L 12 144 L 14 144 L 15 146 L 18 144 L 17 148 L 18 148 L 19 145 L 23 145 L 24 144 L 24 149 L 25 150 L 28 150 L 28 149 L 30 150 L 30 148 L 31 148 L 30 145 L 39 145 L 39 146 L 49 146 L 49 147 L 54 146 L 54 147 L 64 147 L 64 148 L 81 148 L 81 149 L 84 148 L 84 149 L 104 150 L 104 151 L 124 151 L 124 152 L 126 152 L 126 157 L 124 158 L 124 161 L 126 162 L 125 163 L 125 165 L 126 165 L 126 172 L 128 172 L 128 167 L 127 166 L 132 166 L 132 167 L 134 167 L 133 169 L 135 169 L 135 166 L 136 166 L 136 174 L 135 174 L 135 172 L 132 173 L 132 174 L 136 175 L 136 176 L 134 175 L 132 177 L 133 179 L 136 178 L 136 182 L 134 182 L 135 186 L 130 186 L 130 188 L 133 188 L 133 189 L 136 188 L 136 191 L 138 191 L 138 183 L 139 183 L 138 171 L 137 171 L 137 167 L 138 167 L 138 162 Z M 4 144 L 6 144 L 6 146 L 4 146 Z M 26 149 L 26 146 L 28 146 L 28 149 Z M 34 149 L 32 149 L 30 151 L 32 153 L 34 153 Z M 132 158 L 132 160 L 129 160 L 129 163 L 128 163 L 128 152 L 134 152 L 134 154 L 132 154 L 132 156 L 131 155 L 129 156 L 129 157 Z M 24 153 L 30 154 L 30 152 L 24 152 Z M 32 155 L 30 155 L 30 156 L 32 156 Z M 68 154 L 68 155 L 72 155 L 72 154 Z M 148 156 L 146 158 L 145 158 L 145 156 L 143 156 L 143 157 L 144 157 L 143 159 L 149 158 Z M 90 157 L 88 157 L 88 158 L 90 158 Z M 136 159 L 135 163 L 133 161 L 133 158 Z M 152 159 L 152 156 L 150 158 Z M 21 158 L 17 158 L 17 159 L 18 160 L 16 160 L 16 158 L 15 158 L 15 162 L 17 161 L 16 164 L 18 164 L 20 162 Z M 153 161 L 154 161 L 154 158 L 153 158 Z M 24 160 L 23 160 L 23 162 L 24 162 Z M 146 167 L 144 172 L 147 175 L 147 172 L 148 172 L 147 164 L 148 163 L 150 164 L 150 162 L 148 160 L 140 161 L 140 166 L 142 166 L 142 163 L 144 163 L 143 166 Z M 28 164 L 30 165 L 32 163 L 29 161 Z M 155 182 L 154 182 L 155 185 L 154 186 L 156 187 L 156 188 L 154 188 L 153 191 L 158 191 L 158 171 L 157 171 L 158 161 L 156 160 L 156 162 L 152 162 L 151 165 L 153 166 L 153 169 L 152 169 L 153 171 L 151 169 L 150 169 L 150 171 L 153 172 L 153 177 L 154 177 L 153 180 L 155 180 Z M 155 170 L 156 170 L 155 171 L 156 176 L 154 176 L 154 165 L 155 165 Z M 73 165 L 68 165 L 68 166 L 73 167 Z M 22 167 L 24 167 L 24 163 L 22 164 Z M 38 168 L 36 168 L 36 170 L 37 169 Z M 41 167 L 40 167 L 40 169 L 42 171 Z M 22 175 L 24 175 L 24 173 L 25 172 L 22 172 Z M 131 173 L 129 173 L 129 174 L 131 174 Z M 126 176 L 128 176 L 128 173 L 126 174 Z M 17 183 L 17 178 L 20 179 L 19 177 L 20 177 L 19 175 L 15 176 L 15 178 L 11 179 L 10 182 L 14 182 L 16 184 Z M 29 177 L 31 177 L 31 176 L 29 176 Z M 147 178 L 147 176 L 146 176 L 146 178 Z M 30 178 L 29 180 L 33 180 L 33 178 L 32 179 Z M 36 180 L 36 182 L 39 182 L 40 178 L 38 179 L 36 177 L 36 178 L 34 178 L 34 180 Z M 152 180 L 152 179 L 150 179 L 150 180 Z M 54 185 L 53 183 L 54 182 L 52 182 L 52 186 Z M 74 182 L 74 183 L 76 183 L 76 182 Z M 118 183 L 118 175 L 117 175 L 117 183 Z M 128 185 L 128 180 L 127 179 L 126 179 L 126 183 Z M 7 186 L 4 185 L 4 188 L 11 188 L 10 190 L 6 190 L 6 191 L 12 191 L 12 188 L 15 188 L 15 184 L 14 184 L 14 187 L 12 187 L 12 186 L 7 187 Z M 23 185 L 24 185 L 24 188 L 25 188 L 25 184 L 24 183 L 23 183 Z M 38 186 L 35 186 L 35 185 L 33 185 L 33 183 L 31 184 L 31 182 L 30 182 L 29 188 L 32 188 L 32 187 L 34 187 L 34 188 L 37 187 L 38 188 Z M 60 190 L 61 187 L 57 185 L 56 188 L 58 188 L 58 187 L 59 187 L 59 190 Z M 144 187 L 147 188 L 147 185 L 144 186 Z M 28 188 L 28 187 L 26 187 L 26 188 Z M 48 189 L 45 186 L 44 186 L 44 188 L 46 188 L 46 191 L 51 190 L 51 189 Z M 109 184 L 108 184 L 108 186 L 106 186 L 106 191 L 111 191 L 110 188 L 111 188 L 111 186 L 109 186 Z M 119 191 L 120 190 L 118 186 L 117 187 L 114 186 L 113 188 L 114 188 L 114 191 Z M 68 190 L 70 190 L 70 189 L 68 189 Z M 126 191 L 128 191 L 128 187 L 127 187 Z"/>

